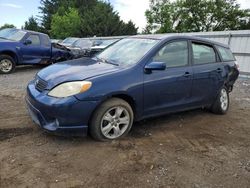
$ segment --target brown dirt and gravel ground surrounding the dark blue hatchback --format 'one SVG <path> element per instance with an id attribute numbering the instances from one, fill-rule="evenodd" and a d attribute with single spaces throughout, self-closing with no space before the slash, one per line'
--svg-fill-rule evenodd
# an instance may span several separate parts
<path id="1" fill-rule="evenodd" d="M 237 82 L 227 115 L 167 115 L 100 143 L 30 120 L 25 86 L 40 68 L 0 75 L 0 187 L 250 187 L 250 81 Z"/>

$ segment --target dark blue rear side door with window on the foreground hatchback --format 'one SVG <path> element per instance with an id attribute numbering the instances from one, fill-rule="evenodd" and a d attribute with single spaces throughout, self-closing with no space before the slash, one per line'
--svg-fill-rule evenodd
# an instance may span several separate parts
<path id="1" fill-rule="evenodd" d="M 210 105 L 223 83 L 223 66 L 213 45 L 192 41 L 194 106 Z"/>

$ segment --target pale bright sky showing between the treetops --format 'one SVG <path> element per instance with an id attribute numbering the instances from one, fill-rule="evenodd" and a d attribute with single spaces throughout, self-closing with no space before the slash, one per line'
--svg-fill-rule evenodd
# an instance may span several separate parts
<path id="1" fill-rule="evenodd" d="M 145 11 L 149 8 L 149 0 L 109 0 L 122 20 L 132 20 L 139 31 L 146 26 Z M 238 0 L 241 7 L 250 8 L 250 0 Z M 0 0 L 0 26 L 5 23 L 21 28 L 32 15 L 39 15 L 40 0 Z"/>

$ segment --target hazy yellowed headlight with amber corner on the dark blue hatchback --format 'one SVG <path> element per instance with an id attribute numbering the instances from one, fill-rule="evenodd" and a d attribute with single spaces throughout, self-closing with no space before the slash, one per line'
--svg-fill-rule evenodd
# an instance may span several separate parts
<path id="1" fill-rule="evenodd" d="M 87 91 L 91 85 L 92 83 L 89 81 L 66 82 L 56 86 L 48 95 L 59 98 L 69 97 Z"/>

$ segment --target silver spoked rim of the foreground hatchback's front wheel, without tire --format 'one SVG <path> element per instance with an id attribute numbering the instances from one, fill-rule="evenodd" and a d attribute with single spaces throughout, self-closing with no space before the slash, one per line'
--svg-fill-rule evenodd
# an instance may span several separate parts
<path id="1" fill-rule="evenodd" d="M 115 139 L 127 130 L 129 123 L 128 111 L 122 106 L 113 107 L 102 118 L 101 132 L 106 138 Z"/>

